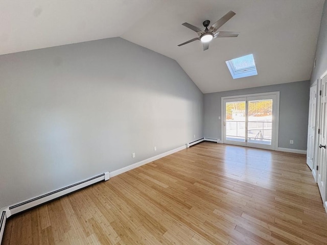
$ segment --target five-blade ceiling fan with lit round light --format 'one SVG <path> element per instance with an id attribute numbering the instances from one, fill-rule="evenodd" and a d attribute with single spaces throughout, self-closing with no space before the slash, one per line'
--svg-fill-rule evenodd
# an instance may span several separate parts
<path id="1" fill-rule="evenodd" d="M 237 37 L 240 33 L 239 32 L 220 32 L 218 29 L 226 23 L 231 17 L 236 15 L 233 11 L 229 11 L 227 14 L 225 14 L 223 17 L 221 17 L 219 20 L 217 20 L 209 29 L 208 26 L 210 24 L 209 20 L 203 21 L 203 26 L 205 27 L 205 30 L 202 30 L 201 28 L 195 27 L 192 24 L 189 23 L 182 23 L 184 27 L 190 28 L 191 30 L 195 31 L 199 37 L 193 38 L 189 41 L 183 42 L 179 44 L 178 46 L 200 40 L 203 43 L 203 51 L 207 50 L 209 48 L 209 42 L 217 37 Z"/>

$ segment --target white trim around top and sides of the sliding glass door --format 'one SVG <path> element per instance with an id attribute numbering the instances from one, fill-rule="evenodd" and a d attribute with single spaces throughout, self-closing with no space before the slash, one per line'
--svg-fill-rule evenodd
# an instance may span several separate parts
<path id="1" fill-rule="evenodd" d="M 327 72 L 327 71 L 326 71 Z M 276 118 L 274 121 L 274 127 L 275 127 L 275 142 L 274 145 L 272 147 L 272 150 L 277 151 L 278 150 L 278 126 L 279 126 L 279 91 L 274 91 L 274 92 L 265 92 L 265 93 L 252 93 L 252 94 L 240 94 L 240 95 L 232 95 L 232 96 L 225 96 L 225 97 L 221 97 L 221 143 L 224 143 L 224 122 L 223 122 L 223 118 L 224 118 L 224 100 L 226 99 L 238 99 L 240 97 L 253 97 L 253 96 L 262 96 L 262 95 L 275 95 L 276 96 Z"/>

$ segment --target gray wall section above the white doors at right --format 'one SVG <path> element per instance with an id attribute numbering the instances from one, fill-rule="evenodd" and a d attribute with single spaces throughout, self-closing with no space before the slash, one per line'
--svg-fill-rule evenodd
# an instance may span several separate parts
<path id="1" fill-rule="evenodd" d="M 327 70 L 327 1 L 323 5 L 315 58 L 316 67 L 312 70 L 311 84 L 320 79 L 323 72 Z"/>

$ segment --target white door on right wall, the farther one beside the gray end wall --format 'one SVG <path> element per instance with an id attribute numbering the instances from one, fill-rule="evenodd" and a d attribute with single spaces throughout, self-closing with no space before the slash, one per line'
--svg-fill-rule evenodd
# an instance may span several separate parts
<path id="1" fill-rule="evenodd" d="M 315 134 L 316 134 L 316 105 L 317 85 L 310 88 L 309 121 L 308 121 L 308 143 L 307 143 L 307 164 L 313 169 L 315 155 Z"/>

